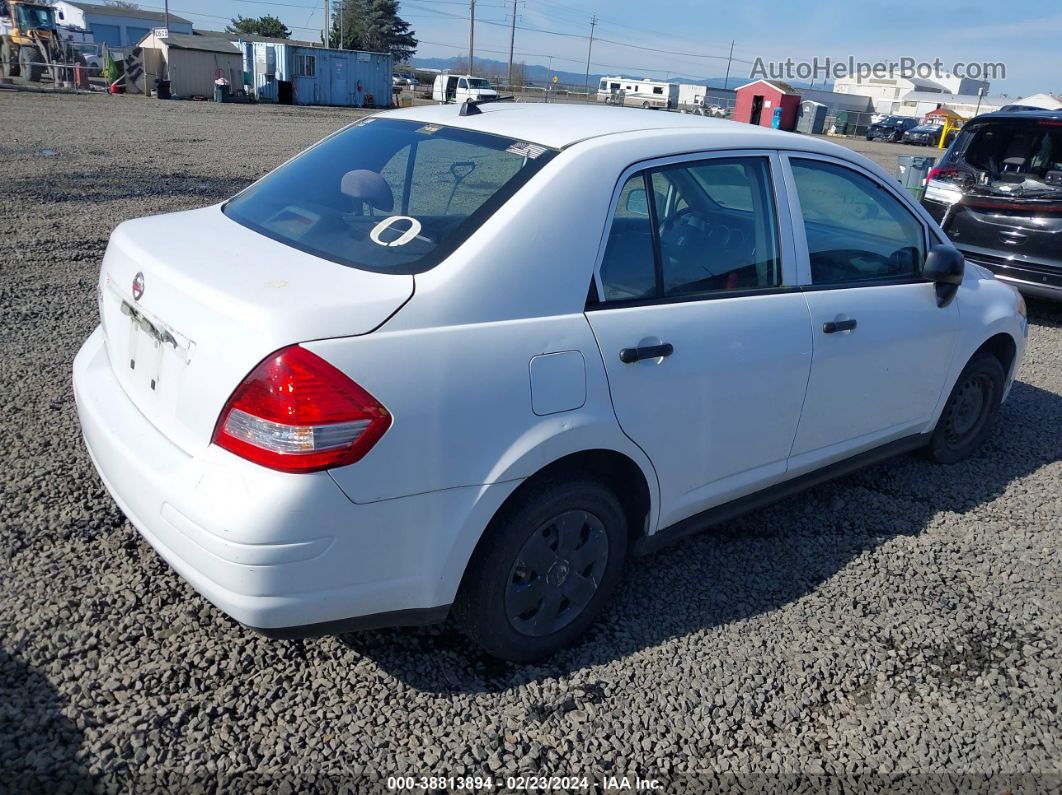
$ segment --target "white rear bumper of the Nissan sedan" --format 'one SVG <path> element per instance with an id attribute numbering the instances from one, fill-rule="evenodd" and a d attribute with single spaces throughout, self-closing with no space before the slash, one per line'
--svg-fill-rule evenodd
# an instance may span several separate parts
<path id="1" fill-rule="evenodd" d="M 195 590 L 268 634 L 445 618 L 476 522 L 485 526 L 484 495 L 508 494 L 355 504 L 327 472 L 275 472 L 213 446 L 188 455 L 125 396 L 100 329 L 74 359 L 73 382 L 88 452 L 130 522 Z"/>

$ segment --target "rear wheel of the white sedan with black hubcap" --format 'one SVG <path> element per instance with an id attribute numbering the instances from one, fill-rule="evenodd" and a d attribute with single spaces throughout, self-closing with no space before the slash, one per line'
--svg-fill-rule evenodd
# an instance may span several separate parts
<path id="1" fill-rule="evenodd" d="M 544 480 L 487 528 L 455 619 L 495 657 L 542 659 L 586 632 L 619 584 L 626 557 L 627 519 L 610 488 L 579 472 Z"/>

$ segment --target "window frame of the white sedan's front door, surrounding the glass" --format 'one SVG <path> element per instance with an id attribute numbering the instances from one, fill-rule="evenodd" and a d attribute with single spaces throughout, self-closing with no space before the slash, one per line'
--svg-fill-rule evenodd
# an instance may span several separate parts
<path id="1" fill-rule="evenodd" d="M 804 211 L 800 203 L 800 193 L 796 190 L 796 177 L 793 174 L 792 160 L 818 160 L 820 162 L 837 166 L 838 168 L 847 169 L 849 171 L 869 179 L 879 189 L 895 198 L 901 207 L 903 207 L 904 210 L 919 223 L 922 227 L 922 241 L 925 246 L 926 255 L 929 254 L 930 247 L 937 243 L 946 243 L 947 240 L 943 239 L 940 235 L 933 234 L 929 224 L 918 211 L 918 206 L 913 204 L 914 200 L 909 193 L 907 193 L 907 191 L 904 191 L 900 187 L 898 183 L 896 185 L 892 185 L 891 182 L 881 179 L 877 174 L 860 167 L 858 163 L 840 157 L 822 155 L 818 152 L 801 152 L 799 150 L 789 150 L 780 152 L 778 154 L 781 159 L 782 178 L 785 183 L 785 193 L 789 201 L 789 215 L 792 219 L 792 237 L 796 249 L 796 283 L 802 290 L 853 290 L 855 288 L 888 287 L 892 284 L 920 284 L 927 281 L 922 276 L 920 269 L 919 274 L 900 278 L 891 277 L 866 279 L 862 281 L 841 281 L 828 284 L 816 284 L 811 279 L 811 255 L 807 245 L 807 229 L 804 226 Z"/>

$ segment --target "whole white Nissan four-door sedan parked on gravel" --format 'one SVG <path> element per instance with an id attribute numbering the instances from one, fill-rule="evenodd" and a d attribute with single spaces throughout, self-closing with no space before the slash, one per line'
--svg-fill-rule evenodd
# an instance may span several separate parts
<path id="1" fill-rule="evenodd" d="M 680 114 L 383 113 L 121 224 L 88 450 L 194 588 L 276 637 L 579 637 L 624 561 L 892 454 L 973 454 L 1025 307 L 866 158 Z"/>

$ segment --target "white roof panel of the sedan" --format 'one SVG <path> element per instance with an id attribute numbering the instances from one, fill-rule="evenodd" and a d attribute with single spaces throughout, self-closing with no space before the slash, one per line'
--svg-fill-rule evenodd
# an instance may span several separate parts
<path id="1" fill-rule="evenodd" d="M 693 114 L 601 104 L 487 102 L 479 105 L 479 109 L 482 113 L 461 116 L 461 105 L 453 103 L 390 110 L 381 116 L 500 135 L 553 149 L 564 149 L 605 135 L 651 134 L 670 129 L 697 129 L 707 136 L 733 136 L 739 124 Z M 765 149 L 794 148 L 790 134 L 777 129 L 740 124 L 740 132 L 748 136 L 750 143 Z"/>

